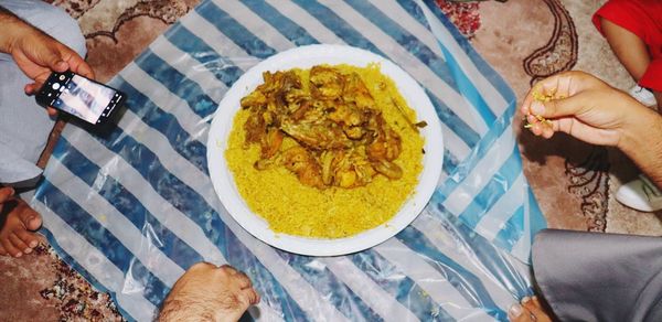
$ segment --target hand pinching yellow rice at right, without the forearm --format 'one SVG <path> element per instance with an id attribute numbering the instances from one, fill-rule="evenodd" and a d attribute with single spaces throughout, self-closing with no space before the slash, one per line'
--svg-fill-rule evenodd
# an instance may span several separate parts
<path id="1" fill-rule="evenodd" d="M 540 101 L 534 98 L 536 95 L 551 99 Z M 619 146 L 623 132 L 637 127 L 638 120 L 650 111 L 592 75 L 566 72 L 536 84 L 526 95 L 520 112 L 536 136 L 551 138 L 554 132 L 563 131 L 588 143 Z"/>

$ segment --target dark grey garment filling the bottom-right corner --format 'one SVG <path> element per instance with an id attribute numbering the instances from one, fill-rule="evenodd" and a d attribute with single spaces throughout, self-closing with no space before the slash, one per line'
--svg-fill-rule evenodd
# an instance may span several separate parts
<path id="1" fill-rule="evenodd" d="M 662 321 L 662 238 L 545 229 L 533 271 L 560 321 Z"/>

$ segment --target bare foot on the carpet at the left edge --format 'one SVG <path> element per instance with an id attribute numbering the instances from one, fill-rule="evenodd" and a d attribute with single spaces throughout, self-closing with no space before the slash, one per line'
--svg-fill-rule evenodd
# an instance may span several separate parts
<path id="1" fill-rule="evenodd" d="M 21 257 L 32 253 L 32 248 L 39 244 L 32 232 L 39 229 L 41 224 L 41 216 L 15 197 L 12 187 L 0 187 L 0 256 Z"/>

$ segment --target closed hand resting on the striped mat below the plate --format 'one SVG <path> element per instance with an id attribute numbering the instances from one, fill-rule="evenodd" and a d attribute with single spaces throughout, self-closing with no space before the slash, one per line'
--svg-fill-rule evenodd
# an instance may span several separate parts
<path id="1" fill-rule="evenodd" d="M 237 321 L 258 302 L 259 294 L 246 273 L 227 265 L 199 262 L 174 283 L 159 321 L 201 321 L 204 316 L 213 321 Z"/>

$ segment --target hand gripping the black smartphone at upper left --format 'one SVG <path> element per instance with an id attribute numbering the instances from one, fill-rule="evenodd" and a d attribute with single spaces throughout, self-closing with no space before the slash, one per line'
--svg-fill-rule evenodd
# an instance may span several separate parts
<path id="1" fill-rule="evenodd" d="M 26 94 L 35 94 L 53 72 L 72 71 L 94 79 L 89 65 L 72 49 L 28 23 L 15 22 L 10 28 L 13 30 L 9 33 L 6 50 L 33 80 L 25 85 Z M 49 114 L 54 115 L 55 109 L 49 108 Z"/>

